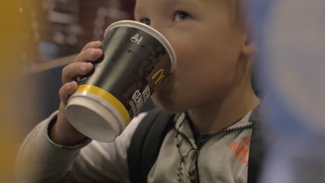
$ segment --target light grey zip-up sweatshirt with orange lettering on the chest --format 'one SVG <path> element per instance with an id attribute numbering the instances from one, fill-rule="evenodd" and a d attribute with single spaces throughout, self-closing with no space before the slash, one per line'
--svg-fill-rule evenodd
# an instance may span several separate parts
<path id="1" fill-rule="evenodd" d="M 87 140 L 76 146 L 61 146 L 49 139 L 49 124 L 56 115 L 42 121 L 24 140 L 17 156 L 19 182 L 130 182 L 127 150 L 146 113 L 135 117 L 112 143 Z M 178 114 L 147 181 L 247 182 L 250 115 L 196 142 L 185 113 Z"/>

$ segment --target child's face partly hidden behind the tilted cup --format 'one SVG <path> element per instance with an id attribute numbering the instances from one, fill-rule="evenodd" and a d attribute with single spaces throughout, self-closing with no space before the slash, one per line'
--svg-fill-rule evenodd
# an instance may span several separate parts
<path id="1" fill-rule="evenodd" d="M 224 0 L 137 0 L 135 19 L 165 35 L 176 53 L 176 69 L 153 94 L 164 110 L 219 101 L 242 73 L 244 33 Z"/>

